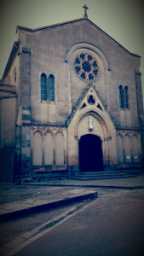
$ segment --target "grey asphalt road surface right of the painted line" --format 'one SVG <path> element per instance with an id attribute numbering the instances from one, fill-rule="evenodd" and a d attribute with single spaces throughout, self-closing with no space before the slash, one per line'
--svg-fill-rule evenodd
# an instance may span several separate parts
<path id="1" fill-rule="evenodd" d="M 144 189 L 107 191 L 14 255 L 143 256 Z"/>

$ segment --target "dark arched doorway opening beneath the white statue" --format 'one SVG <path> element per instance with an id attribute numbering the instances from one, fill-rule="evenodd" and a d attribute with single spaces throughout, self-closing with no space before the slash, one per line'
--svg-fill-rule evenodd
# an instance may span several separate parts
<path id="1" fill-rule="evenodd" d="M 78 143 L 80 172 L 103 171 L 101 138 L 94 134 L 82 136 Z"/>

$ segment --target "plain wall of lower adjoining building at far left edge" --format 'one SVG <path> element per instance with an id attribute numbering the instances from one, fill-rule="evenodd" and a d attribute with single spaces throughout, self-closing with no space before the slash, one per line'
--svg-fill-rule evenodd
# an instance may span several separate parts
<path id="1" fill-rule="evenodd" d="M 16 97 L 0 100 L 0 182 L 14 182 Z"/>

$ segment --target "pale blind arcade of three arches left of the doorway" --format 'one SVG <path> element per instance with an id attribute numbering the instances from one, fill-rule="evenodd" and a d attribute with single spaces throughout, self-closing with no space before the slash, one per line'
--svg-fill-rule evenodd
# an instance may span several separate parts
<path id="1" fill-rule="evenodd" d="M 33 169 L 67 169 L 66 127 L 32 126 L 31 138 Z"/>

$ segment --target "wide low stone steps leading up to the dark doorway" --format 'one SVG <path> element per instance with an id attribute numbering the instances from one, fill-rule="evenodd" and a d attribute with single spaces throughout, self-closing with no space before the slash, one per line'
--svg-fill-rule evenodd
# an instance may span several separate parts
<path id="1" fill-rule="evenodd" d="M 99 180 L 99 179 L 112 179 L 112 178 L 126 178 L 126 177 L 136 177 L 135 173 L 126 173 L 118 171 L 101 171 L 101 172 L 78 172 L 75 176 L 70 178 L 75 180 Z"/>

